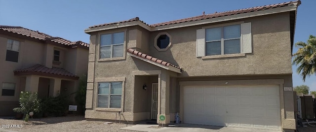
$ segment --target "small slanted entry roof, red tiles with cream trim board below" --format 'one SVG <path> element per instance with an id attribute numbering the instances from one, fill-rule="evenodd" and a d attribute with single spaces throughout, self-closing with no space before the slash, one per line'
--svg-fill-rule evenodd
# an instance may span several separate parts
<path id="1" fill-rule="evenodd" d="M 182 73 L 182 68 L 180 66 L 176 66 L 176 65 L 173 65 L 171 63 L 159 60 L 155 57 L 146 55 L 146 54 L 139 52 L 139 51 L 136 51 L 134 49 L 131 49 L 131 48 L 127 49 L 127 53 L 128 53 L 128 55 L 130 55 L 132 57 L 135 57 L 137 59 L 151 63 L 153 65 L 156 65 L 156 66 L 159 66 L 159 67 L 162 67 L 162 68 L 174 71 L 174 72 Z"/>

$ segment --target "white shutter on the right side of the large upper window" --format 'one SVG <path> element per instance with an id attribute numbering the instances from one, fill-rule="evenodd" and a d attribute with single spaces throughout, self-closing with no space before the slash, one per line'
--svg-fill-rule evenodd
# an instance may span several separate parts
<path id="1" fill-rule="evenodd" d="M 242 53 L 252 53 L 251 23 L 241 24 Z"/>

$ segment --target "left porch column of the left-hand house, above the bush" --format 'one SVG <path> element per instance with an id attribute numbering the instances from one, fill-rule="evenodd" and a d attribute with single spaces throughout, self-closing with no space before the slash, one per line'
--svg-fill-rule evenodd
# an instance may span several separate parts
<path id="1" fill-rule="evenodd" d="M 29 91 L 32 93 L 39 91 L 39 76 L 36 75 L 28 75 L 26 76 L 25 82 L 25 91 Z"/>

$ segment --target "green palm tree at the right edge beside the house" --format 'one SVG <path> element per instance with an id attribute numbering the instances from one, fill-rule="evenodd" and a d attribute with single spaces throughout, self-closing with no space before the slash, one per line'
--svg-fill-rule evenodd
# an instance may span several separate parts
<path id="1" fill-rule="evenodd" d="M 303 81 L 306 76 L 316 74 L 316 36 L 310 35 L 307 43 L 297 42 L 295 47 L 299 47 L 298 51 L 293 55 L 293 65 L 299 65 L 296 69 L 301 74 Z"/>

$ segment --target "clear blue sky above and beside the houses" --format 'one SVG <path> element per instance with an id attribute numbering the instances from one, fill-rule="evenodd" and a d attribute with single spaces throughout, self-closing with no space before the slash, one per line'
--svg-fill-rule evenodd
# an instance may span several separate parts
<path id="1" fill-rule="evenodd" d="M 181 1 L 181 2 L 179 2 Z M 222 11 L 287 2 L 289 0 L 0 0 L 0 25 L 21 26 L 71 41 L 89 42 L 89 26 L 139 17 L 155 24 Z M 294 42 L 316 35 L 316 0 L 301 0 Z M 297 48 L 293 49 L 296 52 Z M 293 66 L 293 87 L 316 91 L 316 76 L 302 81 Z"/>

